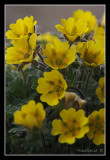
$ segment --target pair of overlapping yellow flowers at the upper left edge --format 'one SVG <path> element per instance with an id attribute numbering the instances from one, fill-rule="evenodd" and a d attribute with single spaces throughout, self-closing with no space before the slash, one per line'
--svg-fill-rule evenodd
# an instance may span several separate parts
<path id="1" fill-rule="evenodd" d="M 36 49 L 37 34 L 35 33 L 35 25 L 33 16 L 18 19 L 16 24 L 10 24 L 9 31 L 6 32 L 7 39 L 10 39 L 13 46 L 7 48 L 5 59 L 7 64 L 29 64 L 33 59 L 38 59 L 34 56 Z M 23 66 L 24 69 L 28 65 Z"/>

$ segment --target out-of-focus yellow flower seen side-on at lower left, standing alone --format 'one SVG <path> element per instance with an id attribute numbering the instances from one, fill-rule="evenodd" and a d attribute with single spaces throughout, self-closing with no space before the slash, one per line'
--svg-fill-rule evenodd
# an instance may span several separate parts
<path id="1" fill-rule="evenodd" d="M 14 122 L 32 130 L 42 127 L 45 116 L 46 112 L 42 103 L 38 102 L 36 104 L 34 100 L 30 100 L 21 107 L 20 111 L 15 111 Z"/>

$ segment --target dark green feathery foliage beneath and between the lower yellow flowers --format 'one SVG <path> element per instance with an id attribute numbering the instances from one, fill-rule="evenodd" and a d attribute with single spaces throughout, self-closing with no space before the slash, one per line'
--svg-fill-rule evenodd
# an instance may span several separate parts
<path id="1" fill-rule="evenodd" d="M 87 103 L 83 105 L 82 109 L 89 115 L 94 110 L 103 108 L 103 104 L 99 101 L 95 94 L 98 87 L 99 77 L 104 76 L 102 72 L 103 68 L 97 67 L 92 70 L 91 78 L 87 87 L 87 97 L 85 97 L 85 86 L 88 73 L 91 68 L 85 68 L 82 76 L 80 90 L 83 96 L 86 98 Z M 76 60 L 72 65 L 68 66 L 64 70 L 60 70 L 66 79 L 69 87 L 76 87 L 79 83 L 78 79 L 81 75 L 81 68 Z M 42 146 L 42 138 L 39 131 L 29 132 L 25 127 L 14 124 L 13 114 L 16 110 L 20 110 L 23 104 L 26 104 L 29 100 L 34 99 L 36 102 L 40 101 L 40 94 L 36 92 L 37 80 L 43 76 L 42 70 L 37 67 L 30 66 L 22 72 L 12 70 L 9 65 L 6 67 L 6 153 L 7 154 L 44 154 L 45 151 Z M 9 73 L 9 74 L 7 74 Z M 98 75 L 97 75 L 98 73 Z M 75 91 L 75 90 L 71 90 Z M 80 93 L 76 90 L 79 96 Z M 48 106 L 43 103 L 46 110 L 46 121 L 41 129 L 44 134 L 45 144 L 47 152 L 49 154 L 89 154 L 97 150 L 97 153 L 104 151 L 104 145 L 96 146 L 89 140 L 87 136 L 84 136 L 81 140 L 76 140 L 75 144 L 59 144 L 58 136 L 51 135 L 51 123 L 54 119 L 59 118 L 59 113 L 64 109 L 65 100 L 60 100 L 60 103 L 56 106 Z M 89 149 L 90 151 L 86 151 Z M 94 154 L 94 153 L 93 153 Z"/>

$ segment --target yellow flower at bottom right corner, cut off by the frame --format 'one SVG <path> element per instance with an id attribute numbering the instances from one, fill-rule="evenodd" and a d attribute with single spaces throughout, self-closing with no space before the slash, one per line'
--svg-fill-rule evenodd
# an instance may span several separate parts
<path id="1" fill-rule="evenodd" d="M 93 139 L 93 143 L 96 145 L 105 144 L 105 133 L 104 133 L 104 123 L 105 123 L 105 109 L 100 109 L 99 111 L 94 111 L 88 116 L 88 126 L 89 132 L 87 136 L 89 139 Z"/>

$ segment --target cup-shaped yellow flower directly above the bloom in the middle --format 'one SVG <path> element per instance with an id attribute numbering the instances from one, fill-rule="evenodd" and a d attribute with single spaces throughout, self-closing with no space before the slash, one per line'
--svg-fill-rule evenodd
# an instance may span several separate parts
<path id="1" fill-rule="evenodd" d="M 44 62 L 53 69 L 63 69 L 70 65 L 76 59 L 76 48 L 72 45 L 69 48 L 68 42 L 61 42 L 59 39 L 53 43 L 47 43 L 43 50 Z"/>

